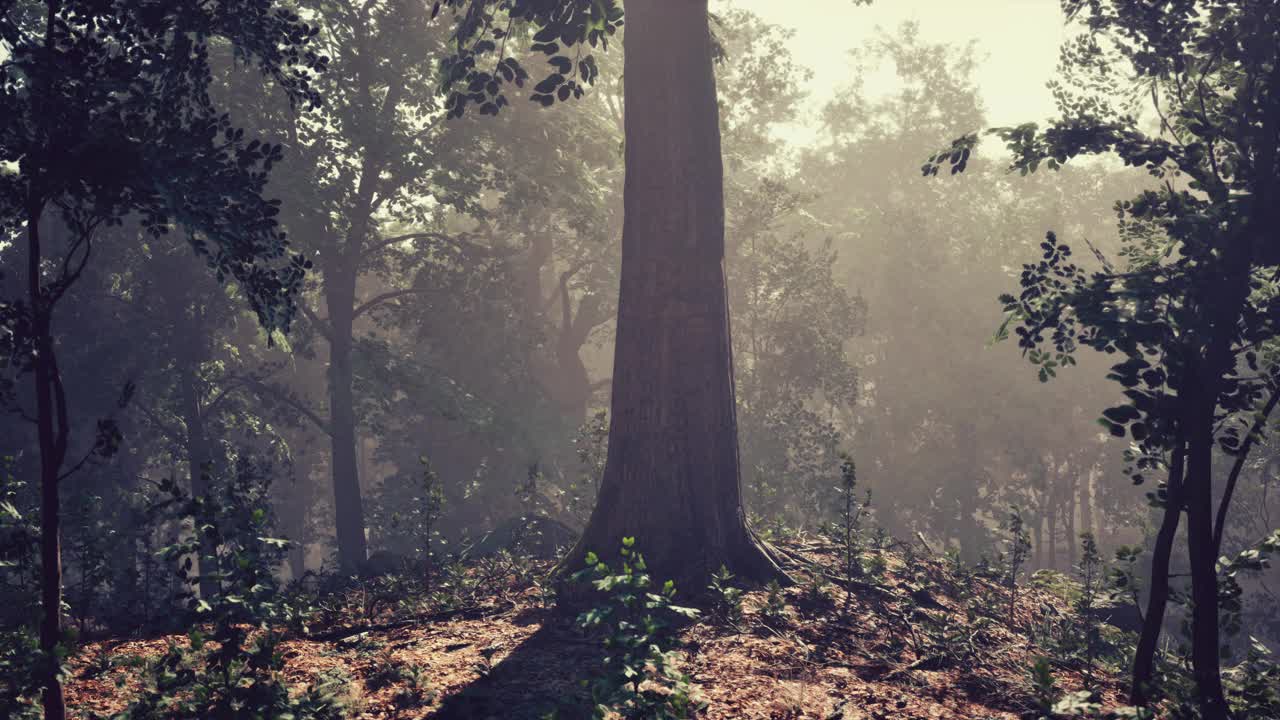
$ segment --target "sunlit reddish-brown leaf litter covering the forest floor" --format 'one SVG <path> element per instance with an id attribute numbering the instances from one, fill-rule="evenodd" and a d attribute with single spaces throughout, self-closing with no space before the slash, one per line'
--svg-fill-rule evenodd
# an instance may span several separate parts
<path id="1" fill-rule="evenodd" d="M 787 550 L 836 565 L 823 543 Z M 776 602 L 768 610 L 765 589 L 755 589 L 736 623 L 704 616 L 681 628 L 675 639 L 682 670 L 707 702 L 699 717 L 987 720 L 1016 719 L 1033 707 L 1030 669 L 1053 655 L 1044 647 L 1053 634 L 1046 619 L 1071 618 L 1064 593 L 1021 588 L 1010 623 L 1009 591 L 993 573 L 887 551 L 883 557 L 874 583 L 845 583 L 852 588 L 847 609 L 840 584 L 814 592 L 801 583 L 783 588 L 781 614 Z M 598 671 L 603 650 L 544 601 L 534 580 L 545 568 L 490 564 L 472 602 L 419 618 L 396 620 L 369 597 L 356 598 L 358 620 L 330 616 L 310 638 L 283 642 L 284 674 L 298 687 L 340 679 L 351 717 L 582 716 L 584 680 Z M 170 642 L 187 641 L 82 646 L 67 684 L 73 716 L 123 710 L 140 687 L 142 661 L 161 656 Z M 1057 660 L 1052 670 L 1061 691 L 1085 683 L 1079 662 Z M 1105 706 L 1121 705 L 1114 669 L 1100 667 L 1091 687 Z"/>

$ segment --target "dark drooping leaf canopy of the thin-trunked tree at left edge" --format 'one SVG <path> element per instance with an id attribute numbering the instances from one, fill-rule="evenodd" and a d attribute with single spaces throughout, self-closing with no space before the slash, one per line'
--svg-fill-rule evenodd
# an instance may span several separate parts
<path id="1" fill-rule="evenodd" d="M 292 101 L 314 105 L 310 79 L 325 67 L 306 47 L 314 29 L 274 0 L 159 10 L 64 1 L 47 18 L 44 5 L 37 13 L 31 5 L 9 3 L 0 15 L 9 46 L 0 61 L 0 104 L 9 109 L 0 164 L 20 168 L 0 174 L 0 208 L 6 231 L 45 206 L 72 231 L 46 300 L 79 277 L 100 225 L 138 213 L 155 237 L 183 225 L 219 279 L 239 283 L 264 327 L 288 328 L 308 263 L 288 255 L 279 204 L 262 197 L 282 147 L 246 137 L 218 110 L 209 49 L 229 41 Z"/>

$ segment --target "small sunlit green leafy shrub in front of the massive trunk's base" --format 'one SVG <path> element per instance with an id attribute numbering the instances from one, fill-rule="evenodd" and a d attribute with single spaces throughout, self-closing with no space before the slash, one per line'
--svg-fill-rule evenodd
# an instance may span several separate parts
<path id="1" fill-rule="evenodd" d="M 604 674 L 591 682 L 598 717 L 618 712 L 623 717 L 689 717 L 701 706 L 696 688 L 680 671 L 680 652 L 667 648 L 673 620 L 692 619 L 698 611 L 675 603 L 676 587 L 667 580 L 658 592 L 635 538 L 622 538 L 620 566 L 611 569 L 594 552 L 573 582 L 589 582 L 603 602 L 584 611 L 577 626 L 599 633 L 608 655 Z"/>

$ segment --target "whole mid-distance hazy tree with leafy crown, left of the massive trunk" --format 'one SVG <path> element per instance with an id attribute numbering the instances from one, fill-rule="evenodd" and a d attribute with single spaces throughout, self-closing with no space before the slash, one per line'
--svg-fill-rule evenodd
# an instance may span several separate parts
<path id="1" fill-rule="evenodd" d="M 300 5 L 330 58 L 316 81 L 324 109 L 297 115 L 260 102 L 256 91 L 233 92 L 233 101 L 291 150 L 273 179 L 285 201 L 282 222 L 315 260 L 314 293 L 301 310 L 328 348 L 326 402 L 308 405 L 306 415 L 330 439 L 338 561 L 355 573 L 367 555 L 357 462 L 361 343 L 376 314 L 439 292 L 399 281 L 421 278 L 433 255 L 493 252 L 466 233 L 443 232 L 449 211 L 474 209 L 489 149 L 467 141 L 470 123 L 442 117 L 438 63 L 447 36 L 425 3 Z"/>

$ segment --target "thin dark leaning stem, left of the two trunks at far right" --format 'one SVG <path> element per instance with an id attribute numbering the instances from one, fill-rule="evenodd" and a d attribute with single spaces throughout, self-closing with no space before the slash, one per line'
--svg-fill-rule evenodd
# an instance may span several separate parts
<path id="1" fill-rule="evenodd" d="M 1178 537 L 1178 523 L 1183 516 L 1183 464 L 1185 450 L 1181 433 L 1174 443 L 1169 462 L 1169 482 L 1165 484 L 1165 518 L 1156 533 L 1156 544 L 1151 550 L 1151 589 L 1147 594 L 1147 614 L 1142 619 L 1142 634 L 1133 659 L 1133 684 L 1129 688 L 1129 702 L 1147 705 L 1151 701 L 1152 676 L 1156 669 L 1156 646 L 1165 625 L 1165 609 L 1169 606 L 1169 559 Z"/>

